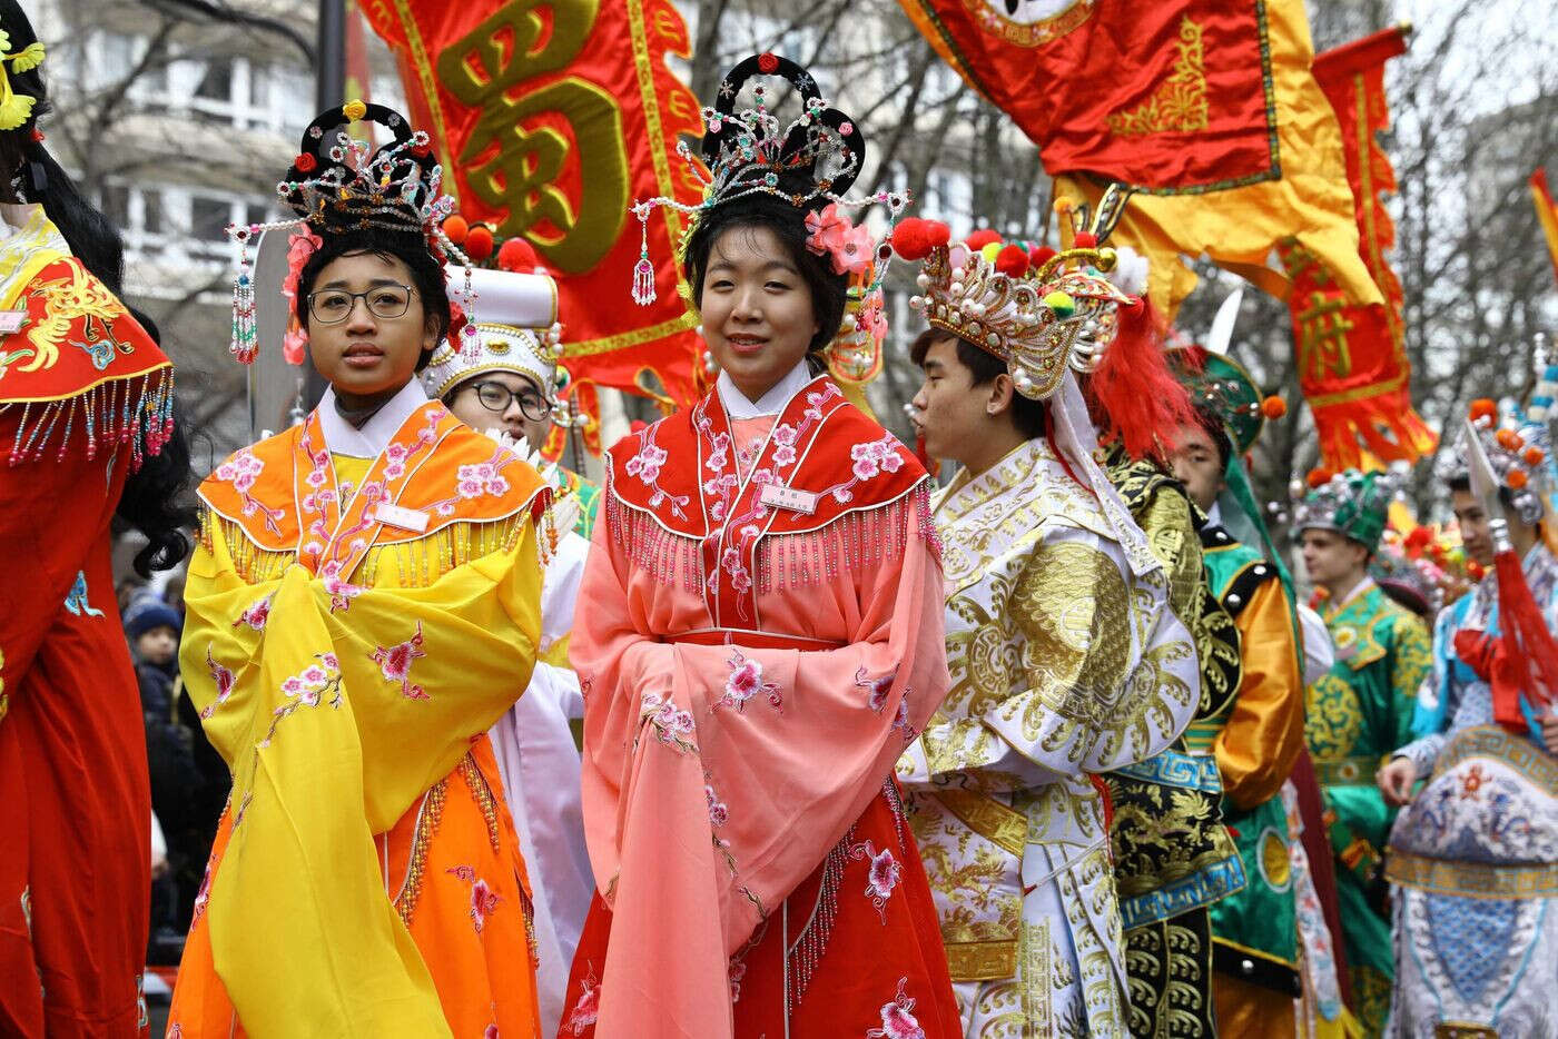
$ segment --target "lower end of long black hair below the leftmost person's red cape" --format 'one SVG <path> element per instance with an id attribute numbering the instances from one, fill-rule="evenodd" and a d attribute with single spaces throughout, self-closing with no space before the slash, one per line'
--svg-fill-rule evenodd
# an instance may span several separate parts
<path id="1" fill-rule="evenodd" d="M 145 313 L 129 310 L 153 343 L 160 346 L 162 333 Z M 196 514 L 190 500 L 195 474 L 190 470 L 190 442 L 184 433 L 178 402 L 173 405 L 173 427 L 168 442 L 156 455 L 146 455 L 140 469 L 125 480 L 118 495 L 115 519 L 146 536 L 146 547 L 136 553 L 136 573 L 150 578 L 153 570 L 171 570 L 189 555 Z"/>

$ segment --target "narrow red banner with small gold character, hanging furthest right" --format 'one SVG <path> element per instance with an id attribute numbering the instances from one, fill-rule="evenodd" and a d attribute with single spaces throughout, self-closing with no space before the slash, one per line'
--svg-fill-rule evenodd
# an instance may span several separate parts
<path id="1" fill-rule="evenodd" d="M 1415 461 L 1438 442 L 1412 408 L 1401 280 L 1385 262 L 1396 226 L 1380 195 L 1396 188 L 1396 173 L 1376 134 L 1390 125 L 1385 62 L 1405 50 L 1405 30 L 1388 28 L 1327 50 L 1313 64 L 1341 126 L 1359 257 L 1384 304 L 1351 302 L 1326 260 L 1302 245 L 1279 249 L 1293 284 L 1288 308 L 1299 385 L 1315 414 L 1321 456 L 1334 470 L 1363 467 L 1369 456 Z"/>

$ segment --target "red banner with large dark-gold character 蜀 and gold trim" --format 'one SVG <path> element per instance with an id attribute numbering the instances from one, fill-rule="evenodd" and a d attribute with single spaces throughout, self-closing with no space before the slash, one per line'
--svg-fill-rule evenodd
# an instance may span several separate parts
<path id="1" fill-rule="evenodd" d="M 698 101 L 665 65 L 690 39 L 670 0 L 358 0 L 402 67 L 411 117 L 433 134 L 444 184 L 471 221 L 523 237 L 558 276 L 573 385 L 693 399 L 698 324 L 673 263 L 659 301 L 629 298 L 634 199 L 696 204 L 676 154 Z M 650 221 L 650 255 L 676 255 L 678 213 Z M 580 400 L 594 399 L 576 394 Z"/>

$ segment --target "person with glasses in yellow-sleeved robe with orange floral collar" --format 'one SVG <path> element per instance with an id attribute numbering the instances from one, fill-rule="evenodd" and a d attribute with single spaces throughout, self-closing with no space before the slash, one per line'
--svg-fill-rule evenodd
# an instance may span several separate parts
<path id="1" fill-rule="evenodd" d="M 399 131 L 372 157 L 332 143 L 363 115 Z M 414 379 L 449 299 L 422 234 L 433 159 L 393 115 L 319 117 L 282 184 L 319 232 L 294 293 L 330 391 L 199 491 L 182 665 L 234 788 L 170 1036 L 538 1034 L 485 734 L 534 665 L 548 492 Z M 351 204 L 313 204 L 319 170 Z"/>

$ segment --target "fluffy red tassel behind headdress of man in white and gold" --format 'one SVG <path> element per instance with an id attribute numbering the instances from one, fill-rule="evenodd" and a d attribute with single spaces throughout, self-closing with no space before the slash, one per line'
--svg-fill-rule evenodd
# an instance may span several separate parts
<path id="1" fill-rule="evenodd" d="M 1137 299 L 1119 310 L 1119 333 L 1086 380 L 1091 403 L 1102 414 L 1098 427 L 1117 438 L 1131 458 L 1167 453 L 1195 408 L 1162 349 L 1162 333 L 1151 304 Z"/>

